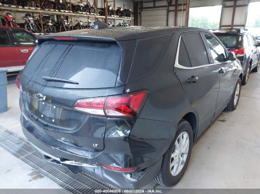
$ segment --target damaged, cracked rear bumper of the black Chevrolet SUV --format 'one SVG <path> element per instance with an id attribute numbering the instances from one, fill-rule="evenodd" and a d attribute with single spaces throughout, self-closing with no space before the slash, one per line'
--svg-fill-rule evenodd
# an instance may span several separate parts
<path id="1" fill-rule="evenodd" d="M 34 150 L 42 156 L 44 162 L 54 168 L 70 173 L 84 171 L 122 189 L 142 188 L 158 175 L 161 170 L 162 156 L 175 135 L 175 128 L 170 128 L 170 126 L 173 127 L 173 123 L 141 119 L 135 122 L 131 130 L 133 132 L 132 136 L 109 137 L 107 134 L 111 134 L 110 130 L 114 129 L 114 119 L 108 119 L 108 129 L 104 138 L 105 149 L 100 152 L 91 152 L 50 138 L 38 131 L 30 123 L 30 118 L 27 119 L 21 115 L 22 131 Z M 152 123 L 147 124 L 147 122 Z M 159 125 L 162 129 L 168 128 L 171 132 L 170 134 L 158 133 L 151 135 L 145 132 L 143 125 L 146 125 L 150 132 L 154 129 L 158 131 Z M 151 128 L 152 126 L 154 129 Z M 154 135 L 156 135 L 156 139 L 154 139 Z M 64 161 L 68 160 L 78 162 L 79 165 L 64 163 Z M 137 169 L 127 173 L 120 173 L 106 169 L 101 164 L 115 165 L 122 168 L 137 166 Z"/>

